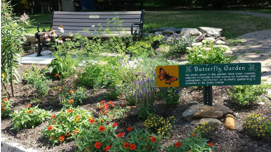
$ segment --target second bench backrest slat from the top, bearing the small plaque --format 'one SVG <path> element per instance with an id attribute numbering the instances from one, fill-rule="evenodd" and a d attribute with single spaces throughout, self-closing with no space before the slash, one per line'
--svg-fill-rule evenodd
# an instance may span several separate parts
<path id="1" fill-rule="evenodd" d="M 53 17 L 55 19 L 57 18 L 74 18 L 74 19 L 89 19 L 89 20 L 94 20 L 94 19 L 112 19 L 115 17 L 118 17 L 118 19 L 140 19 L 140 15 L 99 15 L 99 18 L 89 18 L 91 15 L 56 15 L 54 14 Z"/>

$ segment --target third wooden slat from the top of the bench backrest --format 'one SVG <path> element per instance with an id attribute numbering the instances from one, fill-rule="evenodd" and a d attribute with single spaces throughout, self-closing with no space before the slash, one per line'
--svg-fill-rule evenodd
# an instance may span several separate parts
<path id="1" fill-rule="evenodd" d="M 73 23 L 108 23 L 110 22 L 116 22 L 114 20 L 101 20 L 101 19 L 64 19 L 64 18 L 54 18 L 53 22 L 73 22 Z M 140 19 L 125 19 L 123 20 L 123 23 L 139 23 Z"/>

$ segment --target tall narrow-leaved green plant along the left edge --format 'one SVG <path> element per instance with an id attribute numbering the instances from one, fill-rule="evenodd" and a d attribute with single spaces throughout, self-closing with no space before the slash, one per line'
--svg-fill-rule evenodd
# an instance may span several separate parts
<path id="1" fill-rule="evenodd" d="M 1 82 L 4 88 L 6 82 L 10 84 L 12 97 L 13 82 L 19 83 L 17 53 L 22 51 L 20 45 L 25 39 L 27 26 L 30 26 L 28 15 L 24 13 L 21 17 L 13 17 L 10 1 L 1 0 Z"/>

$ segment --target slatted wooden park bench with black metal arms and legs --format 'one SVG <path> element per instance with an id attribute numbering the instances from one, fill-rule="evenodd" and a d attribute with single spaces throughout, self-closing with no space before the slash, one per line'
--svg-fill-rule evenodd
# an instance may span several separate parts
<path id="1" fill-rule="evenodd" d="M 40 36 L 43 32 L 49 35 L 49 30 L 43 29 L 39 31 L 40 24 L 50 24 L 57 36 L 69 37 L 69 34 L 75 35 L 78 33 L 86 37 L 101 37 L 108 38 L 111 36 L 129 37 L 130 35 L 137 35 L 142 37 L 143 33 L 143 19 L 145 10 L 142 11 L 121 11 L 121 12 L 66 12 L 66 11 L 53 11 L 52 19 L 50 22 L 41 22 L 37 25 L 37 33 L 35 38 L 38 41 L 37 56 L 40 56 L 41 49 L 45 44 L 40 44 Z M 117 18 L 117 19 L 114 19 Z M 122 21 L 122 26 L 114 22 Z M 59 32 L 57 29 L 60 25 L 64 28 L 64 33 Z M 101 28 L 102 26 L 103 28 Z M 107 34 L 103 31 L 111 31 Z M 85 30 L 88 29 L 88 30 Z"/>

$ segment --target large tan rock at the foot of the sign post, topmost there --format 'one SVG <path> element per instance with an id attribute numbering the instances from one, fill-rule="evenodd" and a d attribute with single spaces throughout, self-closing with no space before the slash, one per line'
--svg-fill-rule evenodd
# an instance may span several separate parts
<path id="1" fill-rule="evenodd" d="M 216 118 L 216 119 L 220 119 L 222 116 L 223 112 L 221 111 L 220 108 L 207 105 L 199 105 L 193 115 L 193 117 L 195 118 Z"/>

